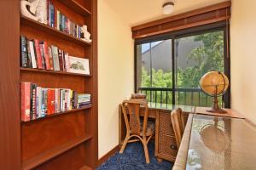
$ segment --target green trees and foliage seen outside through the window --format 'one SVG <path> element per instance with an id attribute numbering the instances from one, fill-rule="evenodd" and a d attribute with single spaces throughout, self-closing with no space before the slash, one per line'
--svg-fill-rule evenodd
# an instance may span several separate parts
<path id="1" fill-rule="evenodd" d="M 185 37 L 186 38 L 186 37 Z M 177 39 L 176 41 L 180 41 Z M 187 62 L 195 63 L 194 66 L 188 66 L 185 69 L 176 68 L 176 87 L 177 88 L 199 88 L 199 81 L 201 77 L 208 71 L 218 70 L 224 71 L 224 33 L 223 31 L 209 32 L 197 35 L 194 38 L 195 42 L 201 42 L 199 47 L 191 50 L 191 53 L 186 56 Z M 172 88 L 172 71 L 151 70 L 152 83 L 150 73 L 143 67 L 142 68 L 142 82 L 143 88 Z M 155 102 L 160 102 L 160 92 L 152 94 L 157 95 Z M 191 96 L 193 95 L 193 96 Z M 162 96 L 162 103 L 166 101 L 166 95 Z M 170 99 L 169 99 L 170 98 Z M 187 105 L 191 103 L 194 98 L 193 105 L 198 105 L 199 101 L 206 100 L 205 94 L 186 94 L 179 93 L 176 97 L 177 103 L 180 105 Z M 205 102 L 204 105 L 212 103 Z M 168 101 L 172 102 L 172 93 L 168 94 Z M 169 103 L 168 102 L 168 103 Z M 202 103 L 202 102 L 201 102 Z"/>

